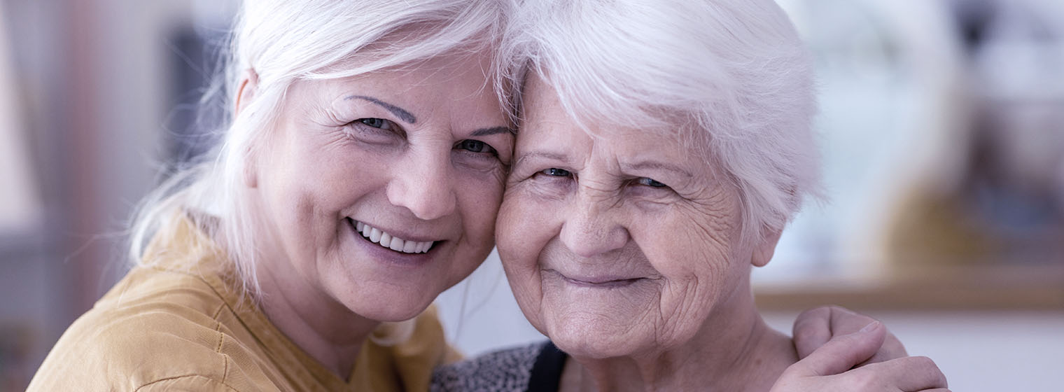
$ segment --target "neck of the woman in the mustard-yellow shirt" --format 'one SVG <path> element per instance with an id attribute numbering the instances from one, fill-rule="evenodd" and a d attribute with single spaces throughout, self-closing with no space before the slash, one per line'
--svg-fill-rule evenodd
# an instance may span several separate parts
<path id="1" fill-rule="evenodd" d="M 307 290 L 290 265 L 266 260 L 256 265 L 263 312 L 311 358 L 348 379 L 362 344 L 380 322 L 351 312 L 323 291 Z"/>

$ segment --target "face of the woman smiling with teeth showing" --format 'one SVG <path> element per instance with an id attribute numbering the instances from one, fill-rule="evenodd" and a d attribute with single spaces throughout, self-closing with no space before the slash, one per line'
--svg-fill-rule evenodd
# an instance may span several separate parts
<path id="1" fill-rule="evenodd" d="M 513 133 L 484 69 L 437 58 L 292 85 L 251 181 L 286 300 L 406 320 L 487 257 Z"/>

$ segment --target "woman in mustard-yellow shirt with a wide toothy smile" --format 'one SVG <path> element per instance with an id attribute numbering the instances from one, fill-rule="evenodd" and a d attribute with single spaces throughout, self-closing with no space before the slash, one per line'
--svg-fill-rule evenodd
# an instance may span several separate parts
<path id="1" fill-rule="evenodd" d="M 428 390 L 458 359 L 430 304 L 492 250 L 512 163 L 511 10 L 244 2 L 221 143 L 147 199 L 137 265 L 30 390 Z M 804 320 L 816 346 L 867 318 Z"/>

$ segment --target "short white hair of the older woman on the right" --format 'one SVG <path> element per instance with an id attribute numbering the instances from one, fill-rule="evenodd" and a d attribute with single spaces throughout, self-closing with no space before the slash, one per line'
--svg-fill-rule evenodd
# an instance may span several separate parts
<path id="1" fill-rule="evenodd" d="M 582 126 L 704 130 L 745 239 L 782 230 L 818 194 L 811 56 L 770 0 L 527 0 L 500 59 L 525 59 L 500 78 L 542 78 Z"/>

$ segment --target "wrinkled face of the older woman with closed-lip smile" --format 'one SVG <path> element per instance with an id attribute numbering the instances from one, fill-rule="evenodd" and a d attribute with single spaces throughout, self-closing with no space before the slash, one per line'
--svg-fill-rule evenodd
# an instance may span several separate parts
<path id="1" fill-rule="evenodd" d="M 687 342 L 748 290 L 733 186 L 670 131 L 588 134 L 551 87 L 526 88 L 497 236 L 521 310 L 576 356 Z"/>

